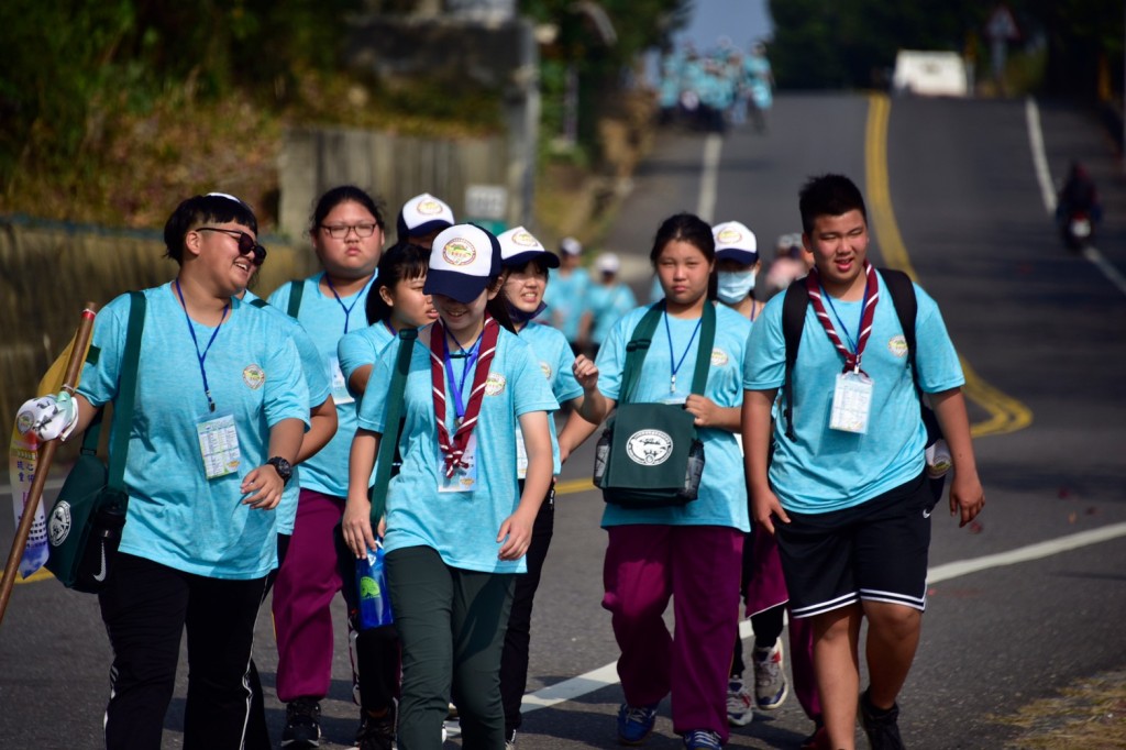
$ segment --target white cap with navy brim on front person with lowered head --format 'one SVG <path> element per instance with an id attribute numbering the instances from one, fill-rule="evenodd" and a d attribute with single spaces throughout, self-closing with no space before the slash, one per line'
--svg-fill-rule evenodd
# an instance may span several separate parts
<path id="1" fill-rule="evenodd" d="M 422 292 L 461 303 L 476 300 L 493 273 L 500 273 L 500 242 L 476 224 L 455 224 L 434 239 Z"/>

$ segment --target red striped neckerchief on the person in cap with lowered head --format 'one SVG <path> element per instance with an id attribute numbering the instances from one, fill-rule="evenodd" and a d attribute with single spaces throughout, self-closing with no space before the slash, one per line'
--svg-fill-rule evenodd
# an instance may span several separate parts
<path id="1" fill-rule="evenodd" d="M 439 318 L 430 328 L 430 383 L 434 391 L 434 413 L 438 422 L 438 447 L 446 459 L 444 467 L 446 477 L 454 475 L 458 468 L 468 464 L 462 461 L 465 448 L 470 444 L 470 435 L 477 423 L 481 413 L 481 400 L 485 395 L 485 381 L 489 378 L 489 365 L 497 354 L 497 338 L 500 336 L 500 323 L 485 313 L 484 327 L 481 331 L 481 349 L 477 365 L 473 373 L 473 389 L 470 391 L 470 402 L 465 407 L 465 418 L 450 439 L 446 429 L 446 329 Z"/>

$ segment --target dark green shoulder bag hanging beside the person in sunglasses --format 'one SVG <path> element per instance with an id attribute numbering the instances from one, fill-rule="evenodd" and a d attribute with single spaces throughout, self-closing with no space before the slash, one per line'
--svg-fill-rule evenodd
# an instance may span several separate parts
<path id="1" fill-rule="evenodd" d="M 131 292 L 122 377 L 114 403 L 115 429 L 109 466 L 97 456 L 101 435 L 99 411 L 82 436 L 78 461 L 66 475 L 47 517 L 46 568 L 63 586 L 75 591 L 97 593 L 105 588 L 125 527 L 128 507 L 125 457 L 129 445 L 129 423 L 133 421 L 144 312 L 144 294 Z M 90 351 L 90 356 L 97 356 L 96 349 Z"/>

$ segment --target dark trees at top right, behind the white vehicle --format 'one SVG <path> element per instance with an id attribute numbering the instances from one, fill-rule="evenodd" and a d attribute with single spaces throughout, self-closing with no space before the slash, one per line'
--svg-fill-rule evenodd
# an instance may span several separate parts
<path id="1" fill-rule="evenodd" d="M 980 0 L 770 0 L 770 48 L 783 88 L 869 88 L 887 83 L 895 53 L 950 50 L 991 70 L 985 26 L 1000 2 Z M 1123 3 L 1009 0 L 1022 38 L 1009 46 L 1013 92 L 1106 100 L 1123 90 Z"/>

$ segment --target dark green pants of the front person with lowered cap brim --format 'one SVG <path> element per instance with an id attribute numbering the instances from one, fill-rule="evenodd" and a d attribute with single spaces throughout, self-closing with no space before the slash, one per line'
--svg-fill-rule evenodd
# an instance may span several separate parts
<path id="1" fill-rule="evenodd" d="M 430 547 L 387 554 L 403 652 L 399 750 L 440 750 L 450 698 L 464 750 L 503 750 L 500 657 L 513 574 L 450 568 Z"/>

